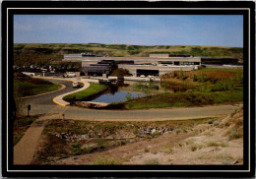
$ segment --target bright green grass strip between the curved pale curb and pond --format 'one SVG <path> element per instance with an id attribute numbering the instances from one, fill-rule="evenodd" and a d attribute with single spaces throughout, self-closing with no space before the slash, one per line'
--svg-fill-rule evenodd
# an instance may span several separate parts
<path id="1" fill-rule="evenodd" d="M 69 95 L 66 95 L 63 97 L 64 100 L 71 100 L 72 98 L 75 98 L 76 100 L 82 100 L 89 96 L 92 96 L 96 93 L 99 93 L 103 90 L 105 90 L 107 87 L 103 85 L 97 85 L 90 83 L 90 87 L 88 89 L 84 89 Z"/>

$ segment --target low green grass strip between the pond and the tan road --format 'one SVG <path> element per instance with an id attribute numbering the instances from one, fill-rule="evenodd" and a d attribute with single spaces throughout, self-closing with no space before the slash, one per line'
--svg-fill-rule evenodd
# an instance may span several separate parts
<path id="1" fill-rule="evenodd" d="M 235 96 L 235 97 L 234 97 Z M 243 101 L 243 90 L 208 91 L 208 92 L 177 92 L 160 93 L 152 96 L 140 97 L 129 101 L 111 104 L 124 105 L 127 109 L 147 109 L 180 106 L 198 106 Z"/>

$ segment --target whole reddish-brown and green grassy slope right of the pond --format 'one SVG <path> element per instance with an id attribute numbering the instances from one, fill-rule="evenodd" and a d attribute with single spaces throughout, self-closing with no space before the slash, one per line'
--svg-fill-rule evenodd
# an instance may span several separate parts
<path id="1" fill-rule="evenodd" d="M 243 74 L 239 69 L 172 72 L 161 77 L 161 86 L 165 92 L 112 103 L 107 108 L 145 109 L 243 101 Z"/>

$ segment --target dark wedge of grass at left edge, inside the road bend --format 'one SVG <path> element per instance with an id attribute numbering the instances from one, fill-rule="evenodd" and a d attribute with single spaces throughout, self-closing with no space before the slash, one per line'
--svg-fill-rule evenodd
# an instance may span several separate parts
<path id="1" fill-rule="evenodd" d="M 58 84 L 52 84 L 41 79 L 33 79 L 23 74 L 14 75 L 14 95 L 17 97 L 30 96 L 60 89 Z"/>

